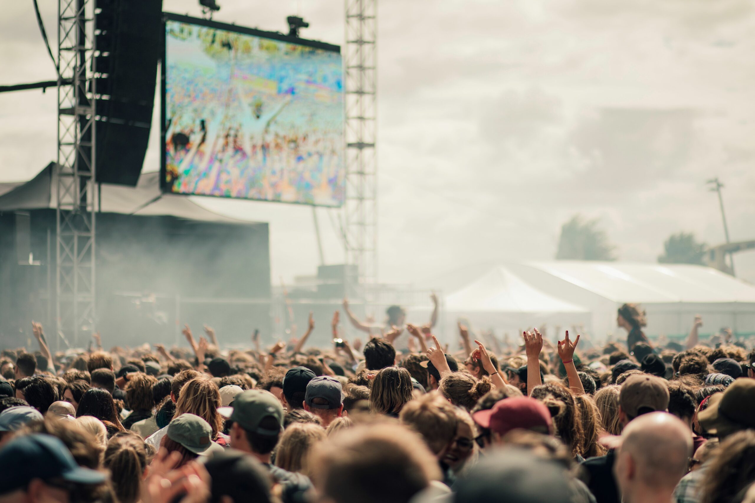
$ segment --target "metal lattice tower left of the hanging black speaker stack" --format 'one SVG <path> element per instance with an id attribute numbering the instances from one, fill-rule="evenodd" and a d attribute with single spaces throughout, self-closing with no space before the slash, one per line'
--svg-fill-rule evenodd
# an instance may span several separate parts
<path id="1" fill-rule="evenodd" d="M 94 0 L 58 0 L 55 319 L 59 338 L 74 343 L 95 319 L 94 8 Z"/>

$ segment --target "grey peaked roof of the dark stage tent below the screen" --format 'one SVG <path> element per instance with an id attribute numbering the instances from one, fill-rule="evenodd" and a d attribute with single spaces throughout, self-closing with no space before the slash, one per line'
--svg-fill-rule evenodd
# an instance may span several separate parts
<path id="1" fill-rule="evenodd" d="M 0 183 L 0 211 L 54 209 L 57 164 L 51 162 L 28 182 Z M 136 187 L 103 183 L 101 210 L 125 215 L 169 215 L 207 222 L 253 224 L 207 210 L 185 195 L 163 194 L 160 173 L 142 173 Z"/>

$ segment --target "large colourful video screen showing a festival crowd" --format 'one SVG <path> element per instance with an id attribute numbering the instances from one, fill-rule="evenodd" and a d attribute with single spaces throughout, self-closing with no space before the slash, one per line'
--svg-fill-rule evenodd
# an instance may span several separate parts
<path id="1" fill-rule="evenodd" d="M 344 204 L 337 46 L 213 25 L 165 21 L 164 190 Z"/>

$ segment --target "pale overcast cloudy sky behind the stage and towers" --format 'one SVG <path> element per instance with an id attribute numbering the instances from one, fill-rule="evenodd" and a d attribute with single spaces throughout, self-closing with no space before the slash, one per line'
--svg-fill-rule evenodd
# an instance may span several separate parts
<path id="1" fill-rule="evenodd" d="M 342 0 L 218 0 L 217 20 L 344 41 Z M 39 0 L 54 37 L 57 2 Z M 673 232 L 755 238 L 755 3 L 749 0 L 381 0 L 380 276 L 455 286 L 496 262 L 552 259 L 576 213 L 620 259 L 655 262 Z M 165 10 L 198 15 L 196 2 Z M 53 40 L 54 43 L 54 40 Z M 30 2 L 0 19 L 0 83 L 51 79 Z M 55 157 L 54 90 L 0 95 L 0 180 Z M 145 170 L 158 167 L 153 135 Z M 198 200 L 270 222 L 273 278 L 312 274 L 311 210 Z M 325 259 L 343 259 L 318 210 Z M 755 253 L 738 274 L 755 281 Z M 458 273 L 458 274 L 456 274 Z"/>

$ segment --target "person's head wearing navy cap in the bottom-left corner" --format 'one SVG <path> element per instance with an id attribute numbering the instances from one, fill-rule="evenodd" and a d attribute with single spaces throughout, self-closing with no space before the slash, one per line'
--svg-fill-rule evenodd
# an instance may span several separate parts
<path id="1" fill-rule="evenodd" d="M 90 503 L 105 474 L 76 465 L 71 452 L 48 434 L 16 437 L 0 449 L 2 503 Z"/>

